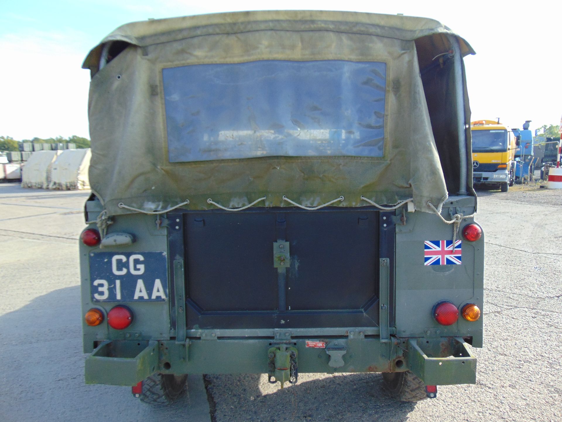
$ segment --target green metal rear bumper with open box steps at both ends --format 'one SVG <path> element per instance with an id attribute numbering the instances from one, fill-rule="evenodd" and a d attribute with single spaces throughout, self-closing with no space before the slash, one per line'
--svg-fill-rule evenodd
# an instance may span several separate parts
<path id="1" fill-rule="evenodd" d="M 330 364 L 327 348 L 345 349 L 343 365 Z M 381 342 L 377 335 L 350 332 L 339 338 L 220 338 L 118 340 L 103 342 L 86 359 L 87 384 L 135 385 L 155 372 L 163 374 L 263 374 L 268 349 L 285 344 L 298 351 L 301 373 L 396 372 L 410 370 L 428 385 L 474 384 L 476 358 L 459 338 L 399 339 Z"/>

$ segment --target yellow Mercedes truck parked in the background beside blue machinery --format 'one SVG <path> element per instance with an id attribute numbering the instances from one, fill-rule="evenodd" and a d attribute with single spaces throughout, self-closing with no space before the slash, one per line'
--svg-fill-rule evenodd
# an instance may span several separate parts
<path id="1" fill-rule="evenodd" d="M 500 119 L 470 122 L 470 131 L 473 184 L 500 185 L 501 191 L 507 192 L 514 182 L 515 134 Z"/>

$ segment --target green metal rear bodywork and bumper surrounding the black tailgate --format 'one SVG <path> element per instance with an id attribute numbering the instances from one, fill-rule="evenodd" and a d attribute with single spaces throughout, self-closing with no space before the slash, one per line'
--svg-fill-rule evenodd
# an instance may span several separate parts
<path id="1" fill-rule="evenodd" d="M 451 198 L 443 208 L 445 217 L 449 214 L 447 206 L 455 213 L 470 214 L 474 198 Z M 99 208 L 96 201 L 88 203 L 90 220 L 97 216 Z M 399 221 L 400 210 L 396 216 Z M 138 235 L 135 244 L 120 246 L 119 252 L 165 250 L 168 229 L 158 228 L 156 219 L 139 214 L 115 219 L 112 230 Z M 460 230 L 469 222 L 472 219 L 463 221 Z M 475 383 L 476 359 L 463 339 L 468 339 L 473 347 L 482 347 L 482 320 L 468 322 L 460 317 L 456 324 L 445 327 L 437 324 L 430 311 L 441 299 L 450 299 L 458 307 L 476 303 L 482 309 L 484 237 L 472 244 L 463 243 L 463 265 L 425 267 L 412 257 L 419 254 L 424 240 L 450 238 L 452 227 L 442 224 L 437 216 L 416 212 L 407 213 L 405 225 L 397 224 L 395 233 L 394 268 L 383 259 L 380 262 L 381 297 L 389 297 L 390 292 L 385 291 L 388 289 L 387 274 L 393 272 L 396 280 L 393 326 L 388 325 L 388 315 L 382 312 L 380 327 L 185 330 L 183 311 L 180 311 L 183 299 L 179 296 L 174 303 L 128 303 L 135 315 L 128 329 L 114 330 L 105 322 L 96 327 L 83 324 L 84 352 L 90 353 L 85 365 L 87 383 L 134 385 L 153 372 L 267 373 L 269 349 L 280 344 L 296 348 L 301 373 L 410 370 L 430 385 Z M 84 258 L 96 250 L 80 244 Z M 107 250 L 110 248 L 103 249 Z M 83 311 L 96 307 L 107 315 L 116 303 L 91 302 L 88 259 L 81 259 L 81 273 Z M 183 260 L 174 260 L 169 273 L 170 277 L 175 273 L 176 280 L 183 279 Z M 381 306 L 385 304 L 383 298 L 380 303 Z M 180 322 L 177 331 L 171 329 L 171 312 Z M 306 347 L 307 341 L 338 343 L 345 347 L 343 366 L 330 366 L 327 350 Z"/>

